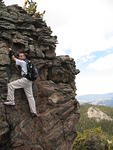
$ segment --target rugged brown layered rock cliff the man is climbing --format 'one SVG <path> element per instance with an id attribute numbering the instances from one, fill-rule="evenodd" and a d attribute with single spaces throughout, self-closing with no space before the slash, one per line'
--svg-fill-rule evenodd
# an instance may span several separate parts
<path id="1" fill-rule="evenodd" d="M 79 105 L 75 99 L 75 62 L 56 56 L 57 37 L 41 17 L 0 1 L 0 150 L 71 150 Z M 19 78 L 8 47 L 24 50 L 39 69 L 33 83 L 38 118 L 32 118 L 23 89 L 15 91 L 16 106 L 4 106 L 7 83 Z"/>

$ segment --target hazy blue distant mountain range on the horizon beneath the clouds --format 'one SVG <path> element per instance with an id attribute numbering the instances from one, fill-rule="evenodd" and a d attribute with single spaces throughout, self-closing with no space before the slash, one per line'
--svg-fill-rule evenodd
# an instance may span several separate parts
<path id="1" fill-rule="evenodd" d="M 82 95 L 77 96 L 77 99 L 80 104 L 89 103 L 113 107 L 113 93 Z"/>

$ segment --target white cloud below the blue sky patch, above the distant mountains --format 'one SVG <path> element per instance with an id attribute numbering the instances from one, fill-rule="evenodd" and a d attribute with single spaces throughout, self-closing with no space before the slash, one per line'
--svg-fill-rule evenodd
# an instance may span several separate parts
<path id="1" fill-rule="evenodd" d="M 113 92 L 113 54 L 88 65 L 86 73 L 77 76 L 78 95 Z"/>

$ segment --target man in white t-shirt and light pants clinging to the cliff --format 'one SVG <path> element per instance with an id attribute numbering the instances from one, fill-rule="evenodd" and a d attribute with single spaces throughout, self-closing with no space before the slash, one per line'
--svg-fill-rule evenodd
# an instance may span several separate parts
<path id="1" fill-rule="evenodd" d="M 4 102 L 4 104 L 14 106 L 15 105 L 14 91 L 15 89 L 23 88 L 28 99 L 31 114 L 33 117 L 37 117 L 36 105 L 32 91 L 32 81 L 25 78 L 25 75 L 27 74 L 27 63 L 25 62 L 26 56 L 23 52 L 20 52 L 19 58 L 17 59 L 14 56 L 14 52 L 12 51 L 12 49 L 9 48 L 8 50 L 9 50 L 9 57 L 15 61 L 16 65 L 19 65 L 21 67 L 22 78 L 8 83 L 7 102 Z"/>

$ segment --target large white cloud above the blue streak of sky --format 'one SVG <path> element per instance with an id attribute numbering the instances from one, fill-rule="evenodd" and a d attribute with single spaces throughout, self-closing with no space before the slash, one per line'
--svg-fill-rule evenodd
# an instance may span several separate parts
<path id="1" fill-rule="evenodd" d="M 45 18 L 58 36 L 57 52 L 71 49 L 77 59 L 113 47 L 113 3 L 109 0 L 42 1 Z"/>

